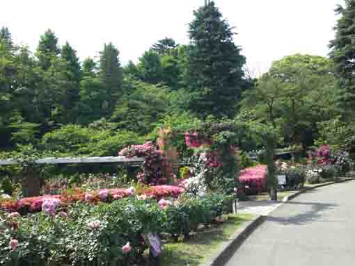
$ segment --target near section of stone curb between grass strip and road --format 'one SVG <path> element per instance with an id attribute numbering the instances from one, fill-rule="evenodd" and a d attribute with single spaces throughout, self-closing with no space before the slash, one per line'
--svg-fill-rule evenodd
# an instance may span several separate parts
<path id="1" fill-rule="evenodd" d="M 259 215 L 253 221 L 247 222 L 241 229 L 232 235 L 232 240 L 221 244 L 214 256 L 205 263 L 205 266 L 220 266 L 228 262 L 241 244 L 253 231 L 265 221 L 265 216 Z"/>

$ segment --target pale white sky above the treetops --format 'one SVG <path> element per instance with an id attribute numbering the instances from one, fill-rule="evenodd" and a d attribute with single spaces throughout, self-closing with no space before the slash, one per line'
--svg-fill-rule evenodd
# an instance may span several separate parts
<path id="1" fill-rule="evenodd" d="M 265 72 L 271 62 L 294 53 L 326 56 L 343 0 L 216 0 L 223 17 L 239 33 L 248 67 Z M 70 42 L 81 60 L 97 56 L 104 42 L 120 50 L 123 64 L 136 60 L 165 37 L 187 44 L 188 24 L 204 0 L 1 0 L 0 27 L 15 42 L 37 47 L 51 28 L 59 43 Z"/>

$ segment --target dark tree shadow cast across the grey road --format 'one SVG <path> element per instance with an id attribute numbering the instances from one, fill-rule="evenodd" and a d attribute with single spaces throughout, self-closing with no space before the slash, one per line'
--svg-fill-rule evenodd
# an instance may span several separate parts
<path id="1" fill-rule="evenodd" d="M 313 222 L 315 220 L 321 220 L 322 219 L 322 213 L 326 210 L 333 210 L 334 208 L 338 207 L 337 204 L 333 203 L 319 203 L 319 202 L 307 202 L 307 201 L 287 201 L 285 204 L 288 205 L 299 205 L 299 206 L 304 206 L 302 208 L 302 211 L 300 212 L 301 208 L 294 208 L 293 210 L 291 209 L 291 214 L 292 213 L 297 213 L 297 215 L 290 216 L 290 217 L 278 217 L 276 215 L 272 216 L 273 214 L 271 213 L 271 216 L 266 218 L 266 221 L 268 222 L 278 222 L 280 224 L 296 224 L 296 225 L 305 225 L 310 222 Z M 329 220 L 322 221 L 322 222 L 331 222 Z"/>

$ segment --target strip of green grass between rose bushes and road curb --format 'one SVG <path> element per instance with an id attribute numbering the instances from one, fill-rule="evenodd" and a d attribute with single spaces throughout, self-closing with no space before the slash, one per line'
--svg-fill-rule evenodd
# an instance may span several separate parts
<path id="1" fill-rule="evenodd" d="M 191 235 L 189 240 L 164 244 L 162 266 L 198 266 L 204 263 L 220 244 L 231 240 L 233 233 L 252 219 L 252 215 L 228 215 L 227 222 Z"/>

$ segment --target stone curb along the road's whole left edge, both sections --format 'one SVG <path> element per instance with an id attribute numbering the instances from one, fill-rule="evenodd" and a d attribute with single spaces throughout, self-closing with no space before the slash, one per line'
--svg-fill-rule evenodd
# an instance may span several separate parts
<path id="1" fill-rule="evenodd" d="M 314 190 L 315 188 L 322 188 L 325 187 L 326 185 L 333 185 L 336 183 L 343 183 L 346 181 L 352 181 L 355 180 L 355 178 L 340 178 L 340 180 L 337 181 L 332 181 L 328 183 L 323 183 L 319 185 L 315 185 L 313 187 L 308 187 L 308 188 L 303 188 L 303 190 L 300 190 L 290 196 L 286 196 L 283 198 L 281 203 L 285 203 L 287 201 L 290 201 L 291 199 L 294 199 L 295 197 L 299 196 L 299 194 L 302 194 L 308 190 Z M 276 208 L 277 209 L 277 208 Z M 253 231 L 260 226 L 265 219 L 267 218 L 267 215 L 259 215 L 253 221 L 247 222 L 242 228 L 240 228 L 238 231 L 236 231 L 232 235 L 232 240 L 229 240 L 228 242 L 225 242 L 221 244 L 221 247 L 216 251 L 215 255 L 212 256 L 210 260 L 208 260 L 207 263 L 205 263 L 205 266 L 221 266 L 225 265 L 228 260 L 232 257 L 232 255 L 239 249 L 239 247 L 243 244 L 244 240 L 248 238 Z"/>

